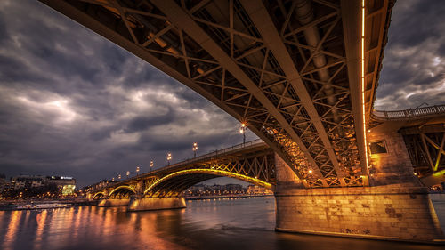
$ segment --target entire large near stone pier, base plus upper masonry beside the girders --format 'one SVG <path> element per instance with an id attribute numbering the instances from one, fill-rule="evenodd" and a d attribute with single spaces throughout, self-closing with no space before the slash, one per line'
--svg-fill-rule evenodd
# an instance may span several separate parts
<path id="1" fill-rule="evenodd" d="M 371 155 L 368 187 L 304 189 L 277 156 L 276 230 L 444 243 L 401 134 L 376 129 L 368 139 L 380 146 Z"/>

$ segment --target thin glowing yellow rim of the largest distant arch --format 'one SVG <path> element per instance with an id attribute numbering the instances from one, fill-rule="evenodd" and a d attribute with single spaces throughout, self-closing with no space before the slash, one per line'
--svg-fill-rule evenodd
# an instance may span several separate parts
<path id="1" fill-rule="evenodd" d="M 180 175 L 196 174 L 196 173 L 205 173 L 205 174 L 222 176 L 222 177 L 231 177 L 231 178 L 235 178 L 235 179 L 238 179 L 241 181 L 247 181 L 250 183 L 254 183 L 257 186 L 262 186 L 269 190 L 272 189 L 272 185 L 269 182 L 261 181 L 254 177 L 249 177 L 247 175 L 243 175 L 243 174 L 239 174 L 239 173 L 231 173 L 228 171 L 217 170 L 217 169 L 188 169 L 188 170 L 182 170 L 182 171 L 170 173 L 170 174 L 164 176 L 163 178 L 159 179 L 158 181 L 153 182 L 146 190 L 144 190 L 143 196 L 145 196 L 145 194 L 147 192 L 152 190 L 154 187 L 156 187 L 158 184 L 162 183 L 163 181 L 172 179 L 172 178 L 174 178 L 176 176 L 180 176 Z"/>

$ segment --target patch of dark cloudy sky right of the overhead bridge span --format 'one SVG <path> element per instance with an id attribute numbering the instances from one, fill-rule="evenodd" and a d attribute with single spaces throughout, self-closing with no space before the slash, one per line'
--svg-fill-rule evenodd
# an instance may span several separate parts
<path id="1" fill-rule="evenodd" d="M 392 12 L 376 109 L 445 103 L 445 4 L 398 1 Z M 425 105 L 425 104 L 424 104 Z"/>

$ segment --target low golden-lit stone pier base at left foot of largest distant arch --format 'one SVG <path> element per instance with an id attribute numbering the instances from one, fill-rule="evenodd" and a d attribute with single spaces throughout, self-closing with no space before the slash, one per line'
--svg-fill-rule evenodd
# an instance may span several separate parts
<path id="1" fill-rule="evenodd" d="M 132 198 L 127 211 L 185 208 L 184 198 Z"/>

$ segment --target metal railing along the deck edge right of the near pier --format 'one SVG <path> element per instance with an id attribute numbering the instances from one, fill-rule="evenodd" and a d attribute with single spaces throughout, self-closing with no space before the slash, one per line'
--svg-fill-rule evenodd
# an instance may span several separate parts
<path id="1" fill-rule="evenodd" d="M 371 117 L 377 120 L 403 120 L 418 117 L 430 117 L 441 114 L 445 115 L 445 104 L 395 111 L 374 110 L 371 114 Z"/>

